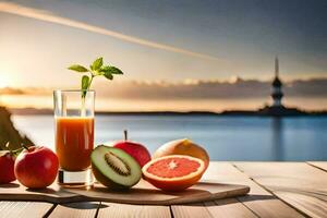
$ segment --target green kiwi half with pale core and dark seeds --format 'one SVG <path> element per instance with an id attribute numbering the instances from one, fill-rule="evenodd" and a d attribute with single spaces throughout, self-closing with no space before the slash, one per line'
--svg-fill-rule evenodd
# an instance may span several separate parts
<path id="1" fill-rule="evenodd" d="M 119 148 L 100 145 L 92 152 L 90 162 L 97 181 L 110 189 L 129 189 L 142 177 L 136 160 Z"/>

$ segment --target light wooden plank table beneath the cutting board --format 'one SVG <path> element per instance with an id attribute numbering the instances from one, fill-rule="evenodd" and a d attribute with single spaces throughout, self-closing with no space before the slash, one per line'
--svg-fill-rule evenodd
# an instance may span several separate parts
<path id="1" fill-rule="evenodd" d="M 0 217 L 327 217 L 326 162 L 210 162 L 206 180 L 246 184 L 246 196 L 192 205 L 0 202 Z"/>

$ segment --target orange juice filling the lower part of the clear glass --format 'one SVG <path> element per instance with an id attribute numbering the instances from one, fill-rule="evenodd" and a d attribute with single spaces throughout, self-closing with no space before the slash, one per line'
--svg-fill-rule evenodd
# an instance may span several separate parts
<path id="1" fill-rule="evenodd" d="M 56 153 L 60 167 L 68 171 L 81 171 L 90 166 L 94 146 L 94 118 L 56 118 Z"/>

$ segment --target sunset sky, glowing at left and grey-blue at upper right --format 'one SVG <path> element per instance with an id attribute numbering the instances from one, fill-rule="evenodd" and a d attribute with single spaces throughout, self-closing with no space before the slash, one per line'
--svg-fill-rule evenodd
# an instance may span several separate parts
<path id="1" fill-rule="evenodd" d="M 125 73 L 111 84 L 101 80 L 94 84 L 104 99 L 109 89 L 109 95 L 116 95 L 110 96 L 118 99 L 112 104 L 116 110 L 131 109 L 128 102 L 135 99 L 133 90 L 137 88 L 142 93 L 138 106 L 132 107 L 135 110 L 257 108 L 268 100 L 270 87 L 266 83 L 274 76 L 275 56 L 288 85 L 296 80 L 308 81 L 307 89 L 324 84 L 326 10 L 324 0 L 0 1 L 0 87 L 77 88 L 81 75 L 66 66 L 88 65 L 102 56 Z M 238 93 L 239 77 L 263 83 L 265 89 L 255 96 L 250 83 L 245 96 L 228 98 L 229 90 L 221 88 L 221 83 L 234 84 Z M 213 81 L 220 88 L 210 92 L 219 95 L 208 95 L 194 85 Z M 175 88 L 190 82 L 193 86 L 186 90 Z M 149 90 L 144 84 L 168 88 Z M 174 88 L 167 84 L 174 84 Z M 117 92 L 112 92 L 114 87 Z M 169 104 L 161 102 L 162 95 L 165 99 L 168 89 L 174 92 L 168 95 L 171 106 L 165 108 Z M 327 108 L 326 97 L 319 93 L 324 89 L 306 92 L 310 95 L 286 87 L 290 105 Z M 146 92 L 156 95 L 149 97 Z M 190 96 L 201 97 L 194 101 Z M 2 96 L 2 101 L 15 105 L 14 97 L 17 94 Z M 45 99 L 52 100 L 49 96 Z"/>

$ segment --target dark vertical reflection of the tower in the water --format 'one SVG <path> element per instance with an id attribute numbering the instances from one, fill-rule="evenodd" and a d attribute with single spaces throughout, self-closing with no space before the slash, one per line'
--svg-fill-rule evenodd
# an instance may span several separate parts
<path id="1" fill-rule="evenodd" d="M 271 159 L 276 161 L 284 160 L 282 118 L 271 119 L 271 130 L 272 130 Z"/>

